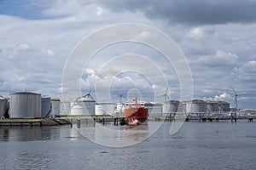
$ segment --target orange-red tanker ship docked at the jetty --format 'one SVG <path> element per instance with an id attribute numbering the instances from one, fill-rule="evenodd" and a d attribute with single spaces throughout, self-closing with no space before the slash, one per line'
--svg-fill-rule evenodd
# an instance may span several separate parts
<path id="1" fill-rule="evenodd" d="M 135 106 L 131 105 L 125 109 L 125 123 L 128 125 L 140 125 L 148 120 L 148 109 L 137 105 L 137 96 L 135 96 Z"/>

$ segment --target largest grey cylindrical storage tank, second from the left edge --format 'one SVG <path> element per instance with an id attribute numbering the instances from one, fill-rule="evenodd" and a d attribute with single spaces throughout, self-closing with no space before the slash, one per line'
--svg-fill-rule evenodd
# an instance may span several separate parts
<path id="1" fill-rule="evenodd" d="M 41 94 L 35 94 L 31 92 L 10 94 L 9 117 L 41 117 Z"/>

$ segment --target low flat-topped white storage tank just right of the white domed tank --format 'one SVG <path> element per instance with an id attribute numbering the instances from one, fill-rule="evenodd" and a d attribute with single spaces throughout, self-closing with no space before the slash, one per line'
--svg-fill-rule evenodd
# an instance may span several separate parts
<path id="1" fill-rule="evenodd" d="M 95 105 L 96 115 L 113 115 L 114 114 L 114 103 L 97 103 Z"/>

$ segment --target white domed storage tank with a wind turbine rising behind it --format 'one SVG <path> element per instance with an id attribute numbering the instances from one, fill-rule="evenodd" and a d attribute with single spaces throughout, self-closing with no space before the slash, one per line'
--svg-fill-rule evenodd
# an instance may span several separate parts
<path id="1" fill-rule="evenodd" d="M 71 103 L 71 115 L 95 115 L 96 101 L 89 98 L 79 98 Z"/>

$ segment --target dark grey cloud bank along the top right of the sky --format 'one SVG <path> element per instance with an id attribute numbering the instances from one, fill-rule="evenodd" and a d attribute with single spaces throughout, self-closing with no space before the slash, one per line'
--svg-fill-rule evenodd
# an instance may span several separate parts
<path id="1" fill-rule="evenodd" d="M 108 0 L 99 4 L 115 12 L 143 13 L 150 19 L 192 25 L 224 24 L 256 21 L 256 2 L 251 0 Z"/>

